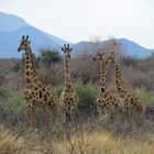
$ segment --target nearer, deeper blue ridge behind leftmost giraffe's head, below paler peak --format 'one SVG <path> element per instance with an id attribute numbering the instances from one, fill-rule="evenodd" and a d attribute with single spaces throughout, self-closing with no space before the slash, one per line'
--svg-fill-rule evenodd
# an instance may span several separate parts
<path id="1" fill-rule="evenodd" d="M 23 26 L 13 32 L 0 32 L 0 56 L 21 57 L 16 48 L 22 35 L 30 35 L 32 51 L 37 54 L 42 47 L 57 48 L 59 44 L 47 38 L 41 31 L 32 26 Z"/>

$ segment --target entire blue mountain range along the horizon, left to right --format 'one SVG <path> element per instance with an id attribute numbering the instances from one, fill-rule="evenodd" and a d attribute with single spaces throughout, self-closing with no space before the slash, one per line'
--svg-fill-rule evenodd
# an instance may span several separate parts
<path id="1" fill-rule="evenodd" d="M 32 51 L 36 55 L 38 54 L 38 50 L 44 47 L 55 48 L 61 52 L 61 46 L 69 43 L 30 25 L 16 15 L 0 12 L 0 57 L 21 57 L 16 48 L 22 35 L 30 35 Z M 124 54 L 129 56 L 146 57 L 151 53 L 154 53 L 154 50 L 142 47 L 127 38 L 117 38 L 117 41 L 123 48 Z M 103 41 L 99 45 L 103 47 L 106 43 L 107 41 Z M 79 42 L 72 44 L 72 46 L 74 48 L 73 56 L 82 53 L 90 54 L 95 50 L 95 45 L 91 42 Z"/>

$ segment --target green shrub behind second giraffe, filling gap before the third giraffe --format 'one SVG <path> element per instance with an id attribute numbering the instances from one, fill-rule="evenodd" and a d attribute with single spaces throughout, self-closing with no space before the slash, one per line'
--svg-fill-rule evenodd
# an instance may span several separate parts
<path id="1" fill-rule="evenodd" d="M 55 88 L 56 95 L 59 97 L 63 91 L 63 86 L 57 86 Z M 78 109 L 81 112 L 91 112 L 96 108 L 96 88 L 89 82 L 87 85 L 82 85 L 81 82 L 76 82 L 74 85 L 74 89 L 79 96 L 79 105 Z"/>

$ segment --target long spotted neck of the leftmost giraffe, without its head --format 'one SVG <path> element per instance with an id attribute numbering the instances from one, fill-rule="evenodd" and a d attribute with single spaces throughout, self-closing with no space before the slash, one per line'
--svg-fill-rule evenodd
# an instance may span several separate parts
<path id="1" fill-rule="evenodd" d="M 30 85 L 33 81 L 38 81 L 38 77 L 34 67 L 32 51 L 29 46 L 25 51 L 25 82 Z"/>

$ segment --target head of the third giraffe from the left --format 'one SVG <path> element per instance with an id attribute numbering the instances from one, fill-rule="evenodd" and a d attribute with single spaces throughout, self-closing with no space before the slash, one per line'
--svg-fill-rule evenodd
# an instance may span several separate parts
<path id="1" fill-rule="evenodd" d="M 98 50 L 96 52 L 96 55 L 94 56 L 94 61 L 98 62 L 99 64 L 105 64 L 105 52 L 102 48 Z"/>

